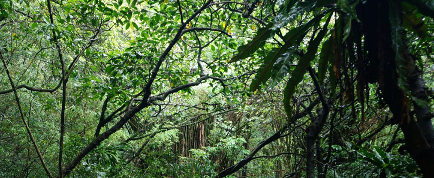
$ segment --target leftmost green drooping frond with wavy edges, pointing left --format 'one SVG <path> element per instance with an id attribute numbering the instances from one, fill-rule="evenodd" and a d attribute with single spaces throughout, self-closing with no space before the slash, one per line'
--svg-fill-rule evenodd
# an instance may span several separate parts
<path id="1" fill-rule="evenodd" d="M 234 55 L 229 62 L 239 61 L 244 58 L 250 57 L 256 50 L 265 44 L 265 41 L 269 39 L 273 34 L 274 30 L 270 29 L 272 24 L 258 29 L 256 36 L 247 44 L 238 47 L 238 54 Z"/>

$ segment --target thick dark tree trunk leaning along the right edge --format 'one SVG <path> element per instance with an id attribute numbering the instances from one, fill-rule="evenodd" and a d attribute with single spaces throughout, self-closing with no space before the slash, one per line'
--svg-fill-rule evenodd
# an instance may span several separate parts
<path id="1" fill-rule="evenodd" d="M 398 87 L 395 51 L 391 47 L 389 2 L 387 0 L 368 0 L 357 6 L 357 13 L 365 35 L 365 50 L 368 51 L 367 57 L 370 65 L 367 68 L 378 75 L 377 81 L 381 93 L 393 113 L 392 121 L 398 123 L 404 133 L 407 151 L 421 168 L 424 177 L 432 178 L 434 177 L 433 149 L 425 139 L 419 123 L 410 114 L 409 103 L 411 101 Z"/>

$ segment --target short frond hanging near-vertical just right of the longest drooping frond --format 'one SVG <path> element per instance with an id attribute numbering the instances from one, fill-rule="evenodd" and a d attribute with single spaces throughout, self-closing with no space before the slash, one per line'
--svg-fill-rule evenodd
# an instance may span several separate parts
<path id="1" fill-rule="evenodd" d="M 319 84 L 324 84 L 325 71 L 327 71 L 327 64 L 333 61 L 333 38 L 330 37 L 322 44 L 321 53 L 319 54 L 318 62 L 318 80 Z M 333 77 L 333 76 L 332 76 Z"/>

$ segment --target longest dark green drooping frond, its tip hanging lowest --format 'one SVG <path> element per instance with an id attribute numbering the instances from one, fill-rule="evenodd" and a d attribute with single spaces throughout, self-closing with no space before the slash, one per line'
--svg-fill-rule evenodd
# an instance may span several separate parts
<path id="1" fill-rule="evenodd" d="M 291 97 L 293 96 L 297 85 L 300 83 L 300 81 L 302 81 L 303 76 L 306 73 L 306 69 L 310 65 L 310 61 L 315 58 L 316 52 L 318 51 L 319 43 L 322 41 L 325 34 L 327 33 L 327 26 L 329 26 L 331 17 L 332 16 L 329 15 L 321 31 L 318 33 L 316 38 L 309 44 L 306 54 L 304 54 L 302 58 L 300 58 L 296 69 L 294 69 L 291 74 L 291 78 L 289 78 L 288 83 L 286 84 L 285 91 L 283 92 L 283 106 L 285 107 L 286 115 L 288 116 L 288 118 L 291 118 L 292 112 L 290 104 Z"/>

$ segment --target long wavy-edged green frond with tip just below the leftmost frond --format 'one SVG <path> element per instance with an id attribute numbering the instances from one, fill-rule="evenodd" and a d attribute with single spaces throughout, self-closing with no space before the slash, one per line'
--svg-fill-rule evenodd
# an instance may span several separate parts
<path id="1" fill-rule="evenodd" d="M 272 74 L 271 71 L 273 69 L 273 65 L 274 63 L 276 63 L 277 59 L 281 57 L 281 55 L 283 55 L 285 52 L 287 52 L 287 49 L 294 45 L 298 45 L 298 43 L 295 44 L 296 41 L 304 38 L 306 33 L 311 29 L 314 24 L 318 23 L 319 20 L 321 20 L 324 14 L 325 13 L 316 16 L 309 22 L 289 30 L 289 32 L 286 33 L 285 36 L 283 36 L 283 38 L 286 40 L 285 45 L 283 45 L 281 48 L 273 49 L 273 51 L 264 58 L 264 63 L 260 66 L 260 68 L 258 69 L 258 73 L 255 75 L 255 78 L 253 78 L 252 83 L 250 84 L 251 91 L 256 91 L 262 84 L 268 81 Z M 276 71 L 281 70 L 276 69 Z"/>

